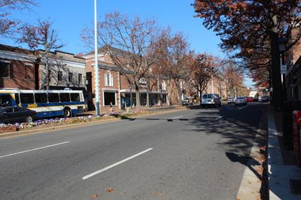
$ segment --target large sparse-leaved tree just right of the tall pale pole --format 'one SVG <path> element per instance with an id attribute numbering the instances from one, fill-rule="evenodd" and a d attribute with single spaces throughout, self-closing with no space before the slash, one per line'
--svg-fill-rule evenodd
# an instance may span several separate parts
<path id="1" fill-rule="evenodd" d="M 98 23 L 98 44 L 136 90 L 136 106 L 140 108 L 140 79 L 157 59 L 154 54 L 157 25 L 154 20 L 128 18 L 119 12 L 106 14 Z M 81 39 L 93 47 L 93 29 L 86 28 Z"/>

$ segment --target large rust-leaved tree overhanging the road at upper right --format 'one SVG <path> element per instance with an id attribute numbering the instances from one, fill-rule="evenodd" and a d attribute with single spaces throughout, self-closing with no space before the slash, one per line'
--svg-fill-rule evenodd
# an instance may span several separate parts
<path id="1" fill-rule="evenodd" d="M 195 0 L 196 17 L 203 18 L 205 28 L 213 29 L 222 40 L 221 47 L 234 52 L 237 57 L 249 57 L 267 51 L 271 59 L 273 99 L 281 104 L 280 56 L 278 38 L 288 38 L 298 30 L 295 45 L 301 35 L 301 1 L 283 0 Z M 256 55 L 257 56 L 257 55 Z M 251 56 L 252 57 L 252 56 Z"/>

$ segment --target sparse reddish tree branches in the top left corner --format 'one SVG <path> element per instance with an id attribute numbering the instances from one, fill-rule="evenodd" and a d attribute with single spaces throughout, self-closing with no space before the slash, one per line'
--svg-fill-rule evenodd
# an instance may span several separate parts
<path id="1" fill-rule="evenodd" d="M 0 0 L 0 36 L 8 37 L 13 35 L 21 23 L 20 19 L 11 16 L 11 11 L 22 11 L 34 5 L 34 0 Z"/>

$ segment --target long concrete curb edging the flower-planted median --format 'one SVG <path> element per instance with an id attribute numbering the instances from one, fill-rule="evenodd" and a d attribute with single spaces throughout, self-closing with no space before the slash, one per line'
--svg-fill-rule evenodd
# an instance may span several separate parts
<path id="1" fill-rule="evenodd" d="M 152 115 L 159 115 L 159 114 L 167 114 L 167 113 L 171 113 L 171 112 L 179 112 L 179 111 L 183 111 L 186 109 L 176 109 L 173 108 L 173 110 L 164 110 L 164 111 L 158 111 L 158 112 L 153 112 L 153 113 L 149 113 L 149 114 L 137 114 L 137 115 L 133 115 L 131 116 L 131 118 L 141 118 L 141 117 L 147 117 L 147 116 L 152 116 Z M 94 121 L 94 122 L 81 122 L 79 124 L 67 124 L 67 125 L 61 125 L 61 126 L 56 126 L 54 124 L 54 127 L 46 127 L 46 128 L 42 128 L 42 129 L 30 129 L 30 130 L 25 130 L 25 131 L 14 131 L 14 132 L 8 132 L 8 133 L 4 133 L 4 134 L 0 134 L 0 139 L 5 139 L 8 137 L 13 137 L 13 136 L 23 136 L 23 135 L 31 135 L 31 134 L 40 134 L 40 133 L 45 133 L 45 132 L 49 132 L 49 131 L 58 131 L 58 130 L 63 130 L 63 129 L 71 129 L 74 127 L 88 127 L 90 125 L 94 125 L 94 124 L 104 124 L 104 123 L 111 123 L 111 122 L 118 122 L 120 120 L 125 120 L 125 119 L 120 119 L 120 118 L 116 118 L 116 119 L 101 119 L 98 121 Z"/>

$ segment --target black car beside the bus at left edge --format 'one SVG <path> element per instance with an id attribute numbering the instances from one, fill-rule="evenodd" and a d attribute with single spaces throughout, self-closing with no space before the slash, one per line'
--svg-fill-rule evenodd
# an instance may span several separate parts
<path id="1" fill-rule="evenodd" d="M 0 107 L 0 122 L 13 123 L 13 122 L 33 122 L 36 118 L 36 112 L 28 110 L 23 107 L 8 106 Z"/>

